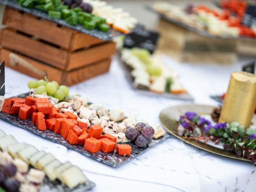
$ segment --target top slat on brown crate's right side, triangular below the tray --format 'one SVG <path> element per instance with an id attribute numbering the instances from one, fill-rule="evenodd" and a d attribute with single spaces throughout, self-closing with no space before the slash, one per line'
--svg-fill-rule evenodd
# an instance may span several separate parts
<path id="1" fill-rule="evenodd" d="M 72 36 L 69 50 L 74 51 L 83 47 L 88 47 L 88 46 L 100 44 L 103 42 L 104 41 L 98 38 L 95 38 L 93 36 L 86 35 L 84 33 L 76 33 L 76 34 L 73 34 Z"/>

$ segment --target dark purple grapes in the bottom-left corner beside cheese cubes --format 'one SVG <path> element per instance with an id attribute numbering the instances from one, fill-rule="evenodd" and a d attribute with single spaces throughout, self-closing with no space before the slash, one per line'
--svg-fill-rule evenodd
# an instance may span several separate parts
<path id="1" fill-rule="evenodd" d="M 19 191 L 20 182 L 15 180 L 13 176 L 17 172 L 17 167 L 13 163 L 6 164 L 0 170 L 0 187 L 8 192 Z"/>

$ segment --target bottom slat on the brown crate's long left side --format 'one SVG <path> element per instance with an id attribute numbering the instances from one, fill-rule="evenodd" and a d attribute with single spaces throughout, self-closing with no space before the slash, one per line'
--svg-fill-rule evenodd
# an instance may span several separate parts
<path id="1" fill-rule="evenodd" d="M 37 78 L 37 79 L 43 79 L 44 77 L 42 76 L 38 76 L 38 74 L 35 74 L 33 71 L 29 70 L 28 68 L 25 68 L 24 66 L 20 65 L 20 64 L 17 64 L 16 66 L 12 66 L 10 64 L 10 55 L 11 51 L 10 50 L 7 50 L 5 48 L 2 48 L 1 51 L 0 51 L 0 60 L 5 60 L 5 65 L 7 67 L 10 67 L 16 71 L 19 71 L 21 73 L 24 73 L 28 76 L 32 76 L 34 78 Z M 36 60 L 33 60 L 33 59 L 30 59 L 30 58 L 27 58 L 26 56 L 22 56 L 20 54 L 17 54 L 15 53 L 17 56 L 19 56 L 20 58 L 26 60 L 27 62 L 29 62 L 30 64 L 32 64 L 33 66 L 35 66 L 36 68 L 40 69 L 40 70 L 43 70 L 46 72 L 46 76 L 50 79 L 50 80 L 54 80 L 58 83 L 61 83 L 61 80 L 62 80 L 62 71 L 61 70 L 58 70 L 56 68 L 53 68 L 53 67 L 50 67 L 50 66 L 47 66 L 45 64 L 42 64 Z"/>

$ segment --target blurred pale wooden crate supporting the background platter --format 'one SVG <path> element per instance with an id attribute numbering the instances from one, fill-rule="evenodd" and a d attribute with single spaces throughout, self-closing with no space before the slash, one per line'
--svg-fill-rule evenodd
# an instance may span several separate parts
<path id="1" fill-rule="evenodd" d="M 161 19 L 158 49 L 182 62 L 232 64 L 236 40 L 207 38 Z"/>

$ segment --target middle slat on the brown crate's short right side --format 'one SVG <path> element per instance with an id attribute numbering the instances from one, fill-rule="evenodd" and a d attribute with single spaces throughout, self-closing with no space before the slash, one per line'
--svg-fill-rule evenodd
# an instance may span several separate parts
<path id="1" fill-rule="evenodd" d="M 99 60 L 109 58 L 116 52 L 116 44 L 108 42 L 86 50 L 80 50 L 69 54 L 67 70 L 89 65 Z"/>

